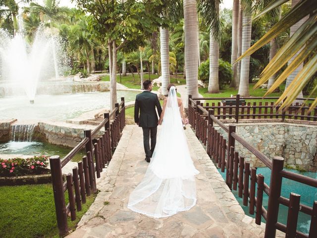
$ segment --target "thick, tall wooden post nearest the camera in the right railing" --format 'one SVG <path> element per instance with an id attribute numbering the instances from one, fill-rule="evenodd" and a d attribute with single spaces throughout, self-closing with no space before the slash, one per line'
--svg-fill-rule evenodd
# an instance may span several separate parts
<path id="1" fill-rule="evenodd" d="M 284 159 L 274 156 L 272 160 L 271 180 L 269 183 L 269 196 L 267 202 L 267 215 L 264 238 L 272 238 L 276 235 L 276 222 L 278 216 L 279 202 L 281 195 L 282 176 L 280 172 L 283 170 Z"/>

